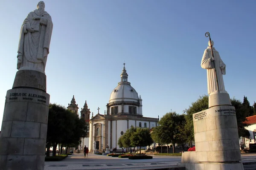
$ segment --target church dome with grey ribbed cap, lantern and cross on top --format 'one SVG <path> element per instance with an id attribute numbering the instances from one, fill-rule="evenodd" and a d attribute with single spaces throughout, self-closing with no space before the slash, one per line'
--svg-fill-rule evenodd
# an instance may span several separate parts
<path id="1" fill-rule="evenodd" d="M 137 91 L 131 87 L 131 83 L 128 82 L 128 74 L 125 70 L 125 63 L 121 74 L 121 82 L 118 83 L 117 87 L 113 89 L 109 103 L 111 102 L 138 102 L 139 96 Z"/>

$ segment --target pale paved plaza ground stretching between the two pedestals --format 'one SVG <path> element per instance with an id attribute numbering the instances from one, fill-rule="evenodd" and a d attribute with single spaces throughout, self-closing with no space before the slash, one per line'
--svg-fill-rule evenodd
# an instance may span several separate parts
<path id="1" fill-rule="evenodd" d="M 153 159 L 132 160 L 112 156 L 82 153 L 68 156 L 63 161 L 45 162 L 44 170 L 147 170 L 166 167 L 177 167 L 181 156 L 153 156 Z M 242 162 L 256 161 L 256 154 L 242 154 Z"/>

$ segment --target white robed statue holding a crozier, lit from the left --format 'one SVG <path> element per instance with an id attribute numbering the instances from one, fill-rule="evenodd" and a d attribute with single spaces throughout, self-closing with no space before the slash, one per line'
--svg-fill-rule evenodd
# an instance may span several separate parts
<path id="1" fill-rule="evenodd" d="M 210 41 L 208 42 L 208 45 L 209 46 L 204 51 L 204 55 L 201 61 L 201 67 L 204 69 L 207 69 L 208 94 L 210 95 L 215 93 L 227 93 L 227 91 L 225 91 L 224 81 L 222 77 L 222 74 L 226 74 L 226 65 L 221 60 L 221 57 L 218 51 L 213 47 L 213 41 L 212 41 L 212 50 L 210 47 Z M 214 58 L 212 58 L 212 51 L 213 51 Z M 213 66 L 214 60 L 215 60 L 216 74 Z M 217 87 L 216 75 L 218 78 L 218 87 Z"/>

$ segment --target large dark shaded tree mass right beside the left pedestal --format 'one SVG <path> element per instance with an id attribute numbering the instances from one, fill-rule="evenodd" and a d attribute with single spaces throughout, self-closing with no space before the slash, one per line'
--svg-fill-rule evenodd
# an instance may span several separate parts
<path id="1" fill-rule="evenodd" d="M 56 148 L 62 145 L 79 144 L 80 139 L 85 137 L 87 125 L 78 115 L 72 113 L 64 106 L 57 104 L 49 105 L 49 116 L 47 126 L 47 156 L 52 146 L 52 156 L 56 155 Z"/>

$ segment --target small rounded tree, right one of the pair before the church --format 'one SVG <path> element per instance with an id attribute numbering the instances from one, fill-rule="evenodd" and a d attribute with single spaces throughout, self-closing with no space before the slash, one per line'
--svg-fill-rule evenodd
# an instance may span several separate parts
<path id="1" fill-rule="evenodd" d="M 151 145 L 153 140 L 150 135 L 150 131 L 148 128 L 137 128 L 136 132 L 131 135 L 131 146 L 139 146 L 140 153 L 141 147 Z"/>

